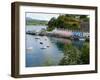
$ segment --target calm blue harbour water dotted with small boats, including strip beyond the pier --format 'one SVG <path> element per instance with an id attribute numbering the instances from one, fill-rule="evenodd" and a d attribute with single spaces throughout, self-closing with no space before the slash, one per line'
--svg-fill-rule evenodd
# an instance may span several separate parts
<path id="1" fill-rule="evenodd" d="M 46 29 L 46 26 L 27 26 L 26 31 L 38 32 L 41 28 Z M 26 34 L 26 67 L 58 65 L 64 57 L 62 46 L 68 43 L 77 48 L 83 44 L 81 41 Z"/>

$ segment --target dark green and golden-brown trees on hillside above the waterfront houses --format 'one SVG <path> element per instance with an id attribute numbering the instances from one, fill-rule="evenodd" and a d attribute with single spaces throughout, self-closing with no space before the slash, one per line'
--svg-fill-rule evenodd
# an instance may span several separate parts
<path id="1" fill-rule="evenodd" d="M 60 15 L 58 18 L 52 17 L 48 22 L 48 30 L 54 28 L 79 29 L 81 21 L 89 21 L 86 15 Z"/>

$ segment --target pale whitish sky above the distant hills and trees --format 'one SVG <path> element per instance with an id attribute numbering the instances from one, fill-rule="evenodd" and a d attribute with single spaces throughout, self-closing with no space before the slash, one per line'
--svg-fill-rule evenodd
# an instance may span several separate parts
<path id="1" fill-rule="evenodd" d="M 48 13 L 32 13 L 27 12 L 26 17 L 32 18 L 32 19 L 38 19 L 38 20 L 46 20 L 49 21 L 52 17 L 57 18 L 59 14 L 48 14 Z"/>

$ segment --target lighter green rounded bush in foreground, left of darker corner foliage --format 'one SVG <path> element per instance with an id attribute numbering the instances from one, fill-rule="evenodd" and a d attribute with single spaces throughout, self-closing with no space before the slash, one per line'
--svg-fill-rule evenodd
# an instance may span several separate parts
<path id="1" fill-rule="evenodd" d="M 64 57 L 59 65 L 80 64 L 80 51 L 72 44 L 64 46 Z"/>

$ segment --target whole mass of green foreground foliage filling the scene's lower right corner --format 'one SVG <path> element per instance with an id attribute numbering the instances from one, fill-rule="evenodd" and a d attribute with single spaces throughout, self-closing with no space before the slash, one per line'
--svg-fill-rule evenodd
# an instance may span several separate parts
<path id="1" fill-rule="evenodd" d="M 64 57 L 59 65 L 89 64 L 89 43 L 85 43 L 81 50 L 72 44 L 64 46 Z"/>

